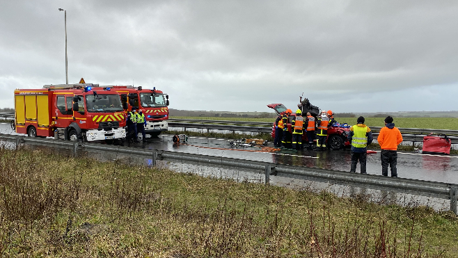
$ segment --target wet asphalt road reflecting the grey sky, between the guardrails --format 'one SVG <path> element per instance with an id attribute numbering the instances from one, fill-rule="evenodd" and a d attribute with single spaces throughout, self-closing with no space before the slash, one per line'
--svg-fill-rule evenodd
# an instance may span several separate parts
<path id="1" fill-rule="evenodd" d="M 4 123 L 0 124 L 0 133 L 15 134 L 10 125 Z M 231 147 L 228 140 L 203 137 L 189 137 L 187 145 L 177 145 L 172 142 L 172 136 L 166 134 L 161 134 L 159 138 L 147 136 L 146 143 L 135 143 L 131 146 L 341 171 L 349 171 L 351 163 L 349 150 L 294 152 L 281 149 L 268 152 L 261 147 Z M 356 171 L 359 171 L 359 164 Z M 367 171 L 368 174 L 381 175 L 380 152 L 368 154 Z M 404 178 L 458 184 L 458 156 L 398 152 L 397 173 Z"/>

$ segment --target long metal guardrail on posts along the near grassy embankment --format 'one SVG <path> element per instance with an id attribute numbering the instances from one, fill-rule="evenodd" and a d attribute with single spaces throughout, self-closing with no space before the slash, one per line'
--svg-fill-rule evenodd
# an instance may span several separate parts
<path id="1" fill-rule="evenodd" d="M 458 184 L 441 182 L 428 182 L 416 179 L 403 179 L 383 177 L 379 175 L 361 175 L 352 172 L 308 168 L 303 166 L 289 166 L 262 161 L 249 161 L 244 159 L 232 159 L 221 156 L 208 156 L 182 152 L 169 152 L 164 150 L 145 150 L 135 147 L 100 145 L 97 143 L 77 143 L 66 140 L 54 140 L 43 138 L 30 138 L 26 136 L 14 136 L 0 134 L 0 140 L 13 142 L 16 146 L 21 144 L 65 147 L 72 150 L 74 156 L 84 151 L 109 152 L 124 154 L 134 157 L 142 157 L 152 160 L 155 166 L 157 160 L 187 161 L 189 163 L 205 163 L 210 166 L 226 166 L 255 172 L 264 172 L 265 182 L 269 184 L 270 175 L 304 179 L 315 182 L 349 185 L 359 188 L 371 188 L 380 191 L 393 191 L 397 193 L 409 193 L 427 197 L 436 197 L 450 200 L 450 210 L 457 214 Z"/>

